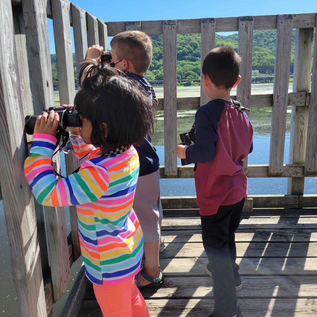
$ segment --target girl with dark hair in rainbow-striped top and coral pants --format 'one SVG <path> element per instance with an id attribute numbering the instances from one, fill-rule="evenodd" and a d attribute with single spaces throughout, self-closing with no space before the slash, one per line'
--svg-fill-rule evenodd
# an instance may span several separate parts
<path id="1" fill-rule="evenodd" d="M 58 114 L 39 116 L 25 176 L 40 204 L 77 205 L 87 278 L 104 316 L 149 317 L 134 283 L 143 235 L 132 209 L 139 173 L 138 144 L 153 128 L 153 108 L 138 84 L 107 63 L 87 62 L 74 105 L 81 128 L 71 128 L 78 172 L 56 179 L 52 166 Z"/>

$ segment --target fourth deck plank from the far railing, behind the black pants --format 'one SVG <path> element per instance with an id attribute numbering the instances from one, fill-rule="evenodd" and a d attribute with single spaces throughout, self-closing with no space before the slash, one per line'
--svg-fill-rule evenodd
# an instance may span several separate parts
<path id="1" fill-rule="evenodd" d="M 165 243 L 167 256 L 171 258 L 207 257 L 203 243 Z M 237 242 L 239 258 L 311 258 L 317 257 L 317 243 L 253 243 Z"/>

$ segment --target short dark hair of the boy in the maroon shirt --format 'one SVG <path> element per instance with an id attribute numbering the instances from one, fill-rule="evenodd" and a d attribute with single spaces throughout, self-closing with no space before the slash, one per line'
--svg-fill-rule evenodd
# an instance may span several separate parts
<path id="1" fill-rule="evenodd" d="M 230 47 L 212 49 L 204 59 L 202 73 L 216 87 L 232 88 L 240 73 L 241 56 Z"/>

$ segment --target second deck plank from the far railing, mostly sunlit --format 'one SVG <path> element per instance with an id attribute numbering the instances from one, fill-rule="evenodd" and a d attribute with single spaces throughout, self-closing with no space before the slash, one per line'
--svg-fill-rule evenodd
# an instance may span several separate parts
<path id="1" fill-rule="evenodd" d="M 162 221 L 162 231 L 164 230 L 200 230 L 200 218 L 166 218 Z M 243 230 L 257 230 L 257 229 L 317 229 L 316 217 L 294 217 L 294 218 L 280 218 L 280 217 L 250 217 L 242 218 L 239 229 Z M 254 232 L 253 232 L 254 233 Z M 269 239 L 268 239 L 269 240 Z"/>

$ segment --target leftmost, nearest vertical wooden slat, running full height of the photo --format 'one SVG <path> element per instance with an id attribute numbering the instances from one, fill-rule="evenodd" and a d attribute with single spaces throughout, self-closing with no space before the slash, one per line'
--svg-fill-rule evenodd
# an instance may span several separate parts
<path id="1" fill-rule="evenodd" d="M 46 12 L 45 12 L 46 13 Z M 27 145 L 12 7 L 0 1 L 0 179 L 12 277 L 21 317 L 46 316 L 34 201 L 24 177 Z"/>

